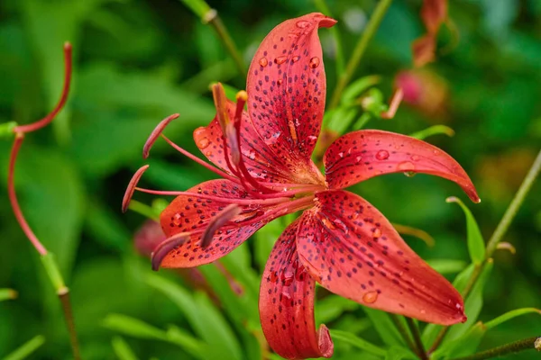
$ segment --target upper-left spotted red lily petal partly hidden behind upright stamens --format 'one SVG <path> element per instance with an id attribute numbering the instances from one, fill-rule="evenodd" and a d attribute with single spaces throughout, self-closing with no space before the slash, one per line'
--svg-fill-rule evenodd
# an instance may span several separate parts
<path id="1" fill-rule="evenodd" d="M 229 117 L 234 118 L 236 105 L 227 100 L 227 112 Z M 268 183 L 292 183 L 294 175 L 274 152 L 260 138 L 255 131 L 252 121 L 247 112 L 243 112 L 241 128 L 241 151 L 244 164 L 252 177 L 261 182 Z M 215 166 L 233 175 L 232 169 L 225 161 L 223 130 L 218 122 L 217 115 L 206 127 L 197 128 L 194 131 L 194 140 L 197 148 Z M 231 150 L 228 151 L 231 154 Z"/>

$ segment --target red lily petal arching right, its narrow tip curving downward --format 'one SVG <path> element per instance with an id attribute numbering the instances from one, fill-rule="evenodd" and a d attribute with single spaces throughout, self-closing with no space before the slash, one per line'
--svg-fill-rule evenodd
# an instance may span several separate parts
<path id="1" fill-rule="evenodd" d="M 425 141 L 394 132 L 345 134 L 327 148 L 324 162 L 331 188 L 344 188 L 382 174 L 425 173 L 454 181 L 472 202 L 481 202 L 472 180 L 453 157 Z"/>

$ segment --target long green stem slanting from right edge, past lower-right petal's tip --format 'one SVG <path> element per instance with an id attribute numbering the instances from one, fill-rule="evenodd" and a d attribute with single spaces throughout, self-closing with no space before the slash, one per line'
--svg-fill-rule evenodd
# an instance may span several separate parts
<path id="1" fill-rule="evenodd" d="M 498 244 L 500 243 L 501 239 L 505 235 L 507 229 L 509 229 L 509 225 L 511 224 L 511 221 L 513 220 L 513 218 L 515 218 L 515 215 L 517 215 L 520 205 L 522 204 L 522 202 L 524 202 L 524 199 L 526 199 L 527 192 L 531 189 L 532 185 L 534 184 L 537 175 L 539 175 L 540 170 L 541 170 L 541 150 L 537 154 L 537 157 L 534 160 L 534 163 L 532 164 L 529 171 L 527 172 L 527 175 L 522 181 L 522 184 L 520 184 L 520 187 L 518 188 L 518 191 L 515 194 L 515 197 L 509 204 L 508 209 L 503 214 L 503 217 L 501 218 L 500 223 L 494 230 L 494 233 L 492 234 L 491 239 L 487 243 L 484 261 L 482 262 L 481 265 L 475 266 L 473 268 L 472 277 L 470 277 L 470 280 L 468 281 L 468 284 L 466 284 L 466 286 L 464 287 L 464 290 L 462 293 L 464 299 L 466 299 L 467 296 L 472 291 L 473 285 L 475 285 L 475 283 L 477 282 L 477 279 L 479 278 L 479 275 L 481 275 L 482 268 L 486 264 L 487 260 L 491 258 L 492 254 L 494 253 L 494 250 L 496 250 L 496 247 L 498 247 Z M 440 332 L 437 334 L 436 340 L 434 340 L 434 343 L 432 344 L 432 347 L 430 347 L 430 350 L 428 350 L 428 354 L 434 352 L 436 348 L 439 347 L 439 345 L 444 340 L 445 335 L 447 334 L 448 330 L 449 330 L 448 327 L 440 330 Z"/>

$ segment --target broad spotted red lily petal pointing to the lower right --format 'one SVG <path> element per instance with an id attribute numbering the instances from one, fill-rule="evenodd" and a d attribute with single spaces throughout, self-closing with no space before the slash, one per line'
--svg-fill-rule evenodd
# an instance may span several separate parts
<path id="1" fill-rule="evenodd" d="M 316 281 L 362 305 L 451 325 L 463 299 L 411 250 L 380 211 L 343 190 L 316 194 L 298 230 L 298 257 Z"/>

